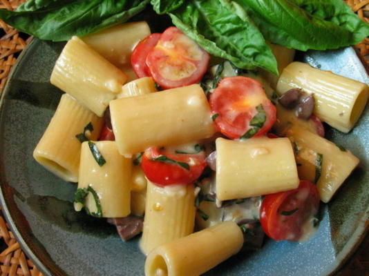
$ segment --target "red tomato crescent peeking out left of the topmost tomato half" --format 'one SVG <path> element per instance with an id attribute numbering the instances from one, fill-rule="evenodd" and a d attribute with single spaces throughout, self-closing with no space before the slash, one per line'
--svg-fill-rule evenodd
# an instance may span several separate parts
<path id="1" fill-rule="evenodd" d="M 136 75 L 141 77 L 151 77 L 149 67 L 146 65 L 146 57 L 150 50 L 155 47 L 162 34 L 154 32 L 148 37 L 142 39 L 133 49 L 131 55 L 131 65 Z"/>

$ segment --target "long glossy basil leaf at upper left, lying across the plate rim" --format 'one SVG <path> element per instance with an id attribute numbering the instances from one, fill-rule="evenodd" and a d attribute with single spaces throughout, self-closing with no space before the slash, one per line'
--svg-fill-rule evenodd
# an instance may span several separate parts
<path id="1" fill-rule="evenodd" d="M 16 11 L 0 10 L 0 19 L 39 39 L 66 41 L 123 23 L 149 0 L 29 0 Z"/>

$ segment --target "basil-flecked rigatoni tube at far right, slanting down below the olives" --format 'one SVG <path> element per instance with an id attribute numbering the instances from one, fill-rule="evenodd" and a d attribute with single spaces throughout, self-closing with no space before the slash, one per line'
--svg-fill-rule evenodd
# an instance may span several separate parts
<path id="1" fill-rule="evenodd" d="M 305 128 L 294 126 L 286 135 L 296 147 L 300 178 L 317 181 L 321 201 L 327 203 L 359 164 L 359 159 Z"/>

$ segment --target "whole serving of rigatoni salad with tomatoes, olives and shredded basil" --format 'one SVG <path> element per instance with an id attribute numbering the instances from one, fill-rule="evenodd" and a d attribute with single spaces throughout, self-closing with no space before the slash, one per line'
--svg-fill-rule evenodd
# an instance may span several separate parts
<path id="1" fill-rule="evenodd" d="M 359 164 L 322 122 L 349 132 L 369 88 L 272 50 L 279 77 L 211 57 L 176 27 L 72 37 L 34 157 L 78 183 L 76 211 L 124 241 L 142 232 L 145 275 L 200 275 L 264 235 L 302 242 Z"/>

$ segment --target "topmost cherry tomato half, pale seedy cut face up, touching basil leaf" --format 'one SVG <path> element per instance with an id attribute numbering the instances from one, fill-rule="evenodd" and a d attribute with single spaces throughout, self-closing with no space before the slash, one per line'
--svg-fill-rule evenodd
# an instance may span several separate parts
<path id="1" fill-rule="evenodd" d="M 162 33 L 147 55 L 151 76 L 164 89 L 188 86 L 200 81 L 210 56 L 176 27 Z"/>

